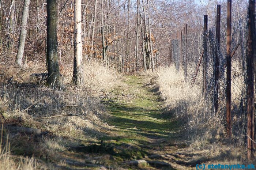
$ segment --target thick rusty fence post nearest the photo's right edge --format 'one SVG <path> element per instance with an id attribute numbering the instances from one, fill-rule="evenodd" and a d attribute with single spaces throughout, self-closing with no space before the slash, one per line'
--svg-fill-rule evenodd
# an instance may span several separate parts
<path id="1" fill-rule="evenodd" d="M 254 79 L 255 69 L 253 64 L 255 62 L 256 41 L 255 41 L 255 0 L 249 0 L 249 18 L 248 18 L 248 39 L 246 49 L 246 64 L 247 64 L 247 158 L 254 158 Z"/>

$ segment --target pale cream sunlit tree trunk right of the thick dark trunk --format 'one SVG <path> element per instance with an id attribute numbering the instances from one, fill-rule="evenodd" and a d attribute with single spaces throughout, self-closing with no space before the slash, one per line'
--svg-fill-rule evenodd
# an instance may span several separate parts
<path id="1" fill-rule="evenodd" d="M 82 55 L 82 4 L 75 0 L 74 4 L 74 69 L 73 83 L 79 86 L 83 82 L 83 55 Z"/>

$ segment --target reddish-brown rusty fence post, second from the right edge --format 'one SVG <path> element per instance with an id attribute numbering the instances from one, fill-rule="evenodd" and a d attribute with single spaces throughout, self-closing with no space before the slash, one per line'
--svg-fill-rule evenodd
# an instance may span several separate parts
<path id="1" fill-rule="evenodd" d="M 231 139 L 231 5 L 232 1 L 227 0 L 227 136 Z"/>

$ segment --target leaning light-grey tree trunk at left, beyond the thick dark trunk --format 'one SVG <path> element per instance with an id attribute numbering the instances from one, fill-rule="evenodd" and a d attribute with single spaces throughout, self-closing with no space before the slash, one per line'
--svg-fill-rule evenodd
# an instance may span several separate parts
<path id="1" fill-rule="evenodd" d="M 22 60 L 23 60 L 23 54 L 24 54 L 24 48 L 25 48 L 25 41 L 26 41 L 26 35 L 27 35 L 27 19 L 29 17 L 29 4 L 30 4 L 30 0 L 24 0 L 21 31 L 19 36 L 19 46 L 18 46 L 18 52 L 17 52 L 16 61 L 15 61 L 15 63 L 17 63 L 19 67 L 22 66 Z"/>

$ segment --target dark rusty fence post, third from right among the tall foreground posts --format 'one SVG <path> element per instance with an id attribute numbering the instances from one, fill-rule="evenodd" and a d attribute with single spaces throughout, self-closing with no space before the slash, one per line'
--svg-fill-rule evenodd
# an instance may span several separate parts
<path id="1" fill-rule="evenodd" d="M 220 48 L 220 31 L 221 31 L 221 5 L 217 5 L 216 14 L 216 48 L 215 48 L 215 62 L 214 62 L 214 114 L 218 111 L 219 98 L 219 48 Z"/>

